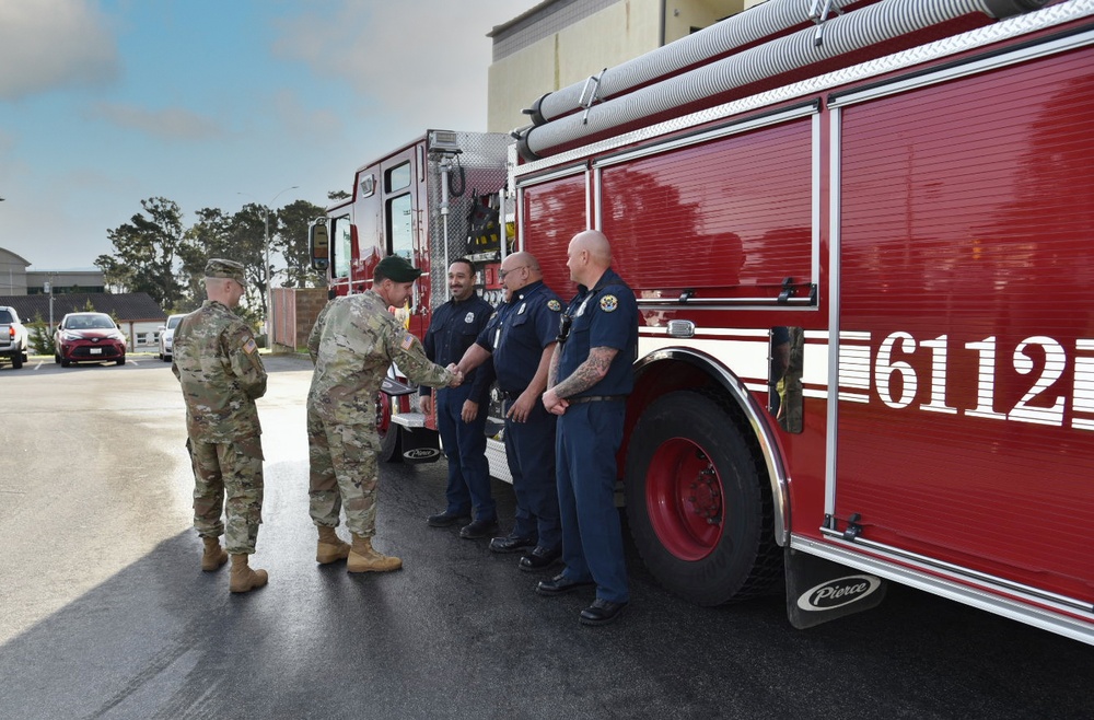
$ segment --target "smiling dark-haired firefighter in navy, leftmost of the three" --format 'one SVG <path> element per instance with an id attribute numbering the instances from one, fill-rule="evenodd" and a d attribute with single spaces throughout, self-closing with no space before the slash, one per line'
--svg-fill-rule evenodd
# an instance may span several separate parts
<path id="1" fill-rule="evenodd" d="M 475 292 L 475 266 L 466 258 L 449 265 L 452 299 L 437 309 L 426 333 L 426 357 L 441 367 L 457 362 L 486 326 L 493 307 Z M 437 428 L 449 458 L 447 504 L 430 515 L 433 527 L 446 527 L 470 515 L 459 530 L 468 539 L 488 537 L 498 529 L 498 511 L 490 493 L 490 465 L 486 460 L 486 419 L 493 382 L 491 368 L 468 374 L 459 387 L 437 390 Z M 421 409 L 432 411 L 433 390 L 422 386 Z"/>

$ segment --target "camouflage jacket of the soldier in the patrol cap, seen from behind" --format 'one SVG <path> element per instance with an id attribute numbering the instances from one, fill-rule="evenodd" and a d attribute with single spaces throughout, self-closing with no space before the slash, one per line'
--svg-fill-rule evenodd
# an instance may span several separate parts
<path id="1" fill-rule="evenodd" d="M 205 301 L 175 328 L 171 369 L 183 385 L 191 440 L 228 443 L 261 433 L 255 399 L 266 369 L 247 324 L 222 303 Z"/>

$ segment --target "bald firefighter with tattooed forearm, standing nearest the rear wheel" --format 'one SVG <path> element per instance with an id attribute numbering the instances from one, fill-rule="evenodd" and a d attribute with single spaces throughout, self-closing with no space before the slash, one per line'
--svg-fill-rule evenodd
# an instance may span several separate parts
<path id="1" fill-rule="evenodd" d="M 562 316 L 543 399 L 559 418 L 556 468 L 566 567 L 536 592 L 558 595 L 595 584 L 596 599 L 580 620 L 605 625 L 630 600 L 615 483 L 626 400 L 635 385 L 638 303 L 612 269 L 603 233 L 574 235 L 567 266 L 578 294 Z"/>

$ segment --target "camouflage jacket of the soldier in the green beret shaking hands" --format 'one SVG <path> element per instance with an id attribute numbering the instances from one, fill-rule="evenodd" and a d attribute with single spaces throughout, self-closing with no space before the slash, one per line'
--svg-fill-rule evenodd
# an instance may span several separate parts
<path id="1" fill-rule="evenodd" d="M 307 408 L 337 423 L 375 425 L 376 393 L 392 362 L 419 385 L 440 387 L 452 379 L 372 290 L 328 302 L 307 351 L 315 363 Z"/>

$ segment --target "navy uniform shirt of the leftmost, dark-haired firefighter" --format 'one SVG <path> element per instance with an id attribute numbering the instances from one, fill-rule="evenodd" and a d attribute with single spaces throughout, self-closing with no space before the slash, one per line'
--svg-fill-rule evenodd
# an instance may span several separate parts
<path id="1" fill-rule="evenodd" d="M 422 341 L 426 357 L 445 368 L 452 362 L 459 362 L 464 352 L 486 327 L 492 312 L 490 303 L 479 298 L 478 293 L 472 293 L 470 298 L 461 302 L 450 300 L 438 307 L 433 311 L 433 318 Z M 486 403 L 492 382 L 493 372 L 490 368 L 472 370 L 464 378 L 464 384 L 472 386 L 468 399 L 479 405 Z M 429 395 L 430 392 L 424 385 L 419 391 L 421 395 Z"/>

